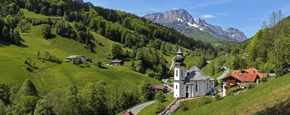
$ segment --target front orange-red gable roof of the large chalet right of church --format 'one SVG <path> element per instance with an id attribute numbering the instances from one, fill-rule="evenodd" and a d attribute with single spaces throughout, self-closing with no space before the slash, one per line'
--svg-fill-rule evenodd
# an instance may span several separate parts
<path id="1" fill-rule="evenodd" d="M 242 82 L 254 82 L 255 79 L 257 78 L 258 74 L 252 74 L 252 73 L 234 73 L 234 74 L 231 74 L 229 76 L 226 76 L 224 78 L 221 78 L 220 80 L 223 80 L 225 78 L 228 78 L 228 77 L 234 77 Z"/>

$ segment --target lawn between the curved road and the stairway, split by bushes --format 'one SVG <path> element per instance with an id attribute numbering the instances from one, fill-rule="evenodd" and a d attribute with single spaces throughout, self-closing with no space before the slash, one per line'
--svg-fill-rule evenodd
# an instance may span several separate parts
<path id="1" fill-rule="evenodd" d="M 171 100 L 170 100 L 170 95 L 167 95 L 165 100 L 163 100 L 162 104 L 164 105 L 164 107 L 167 107 L 175 99 L 175 98 L 173 98 L 173 93 L 171 95 L 172 95 L 172 99 Z M 138 113 L 138 115 L 158 115 L 159 113 L 155 113 L 154 110 L 153 110 L 155 105 L 156 105 L 156 102 L 151 104 L 151 105 L 148 105 L 147 107 L 142 109 Z"/>

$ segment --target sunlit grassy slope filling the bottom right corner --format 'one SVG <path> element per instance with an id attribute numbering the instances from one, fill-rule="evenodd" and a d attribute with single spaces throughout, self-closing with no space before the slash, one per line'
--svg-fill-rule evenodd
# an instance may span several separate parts
<path id="1" fill-rule="evenodd" d="M 290 74 L 184 114 L 290 114 Z M 286 112 L 286 113 L 284 113 Z M 287 113 L 288 112 L 288 113 Z"/>

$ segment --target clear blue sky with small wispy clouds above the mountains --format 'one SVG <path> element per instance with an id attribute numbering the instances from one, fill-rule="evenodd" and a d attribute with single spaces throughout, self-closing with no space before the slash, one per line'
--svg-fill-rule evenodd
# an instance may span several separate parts
<path id="1" fill-rule="evenodd" d="M 285 17 L 290 15 L 290 0 L 84 0 L 88 1 L 139 16 L 184 9 L 223 30 L 238 28 L 247 37 L 255 35 L 263 21 L 269 21 L 271 12 L 282 10 Z"/>

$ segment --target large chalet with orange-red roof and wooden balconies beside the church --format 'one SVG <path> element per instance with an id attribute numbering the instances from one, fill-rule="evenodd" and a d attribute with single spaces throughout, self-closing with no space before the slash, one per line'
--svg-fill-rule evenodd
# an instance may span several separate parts
<path id="1" fill-rule="evenodd" d="M 268 76 L 268 73 L 259 73 L 259 70 L 255 68 L 243 69 L 243 70 L 233 70 L 231 75 L 225 76 L 219 80 L 223 81 L 223 95 L 225 95 L 226 89 L 232 87 L 240 87 L 242 89 L 247 88 L 249 82 L 259 83 L 263 76 Z"/>

